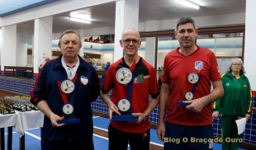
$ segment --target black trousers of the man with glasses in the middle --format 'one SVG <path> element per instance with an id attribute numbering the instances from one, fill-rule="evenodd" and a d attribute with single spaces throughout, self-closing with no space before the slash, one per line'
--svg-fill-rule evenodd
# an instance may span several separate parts
<path id="1" fill-rule="evenodd" d="M 130 150 L 149 150 L 150 129 L 144 133 L 127 133 L 108 126 L 109 150 L 127 150 L 128 141 Z"/>

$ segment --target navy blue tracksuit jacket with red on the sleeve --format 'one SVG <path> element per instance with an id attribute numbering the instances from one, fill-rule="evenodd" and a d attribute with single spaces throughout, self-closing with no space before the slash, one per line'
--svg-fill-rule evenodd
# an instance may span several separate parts
<path id="1" fill-rule="evenodd" d="M 62 54 L 57 59 L 45 63 L 36 79 L 35 87 L 31 90 L 31 103 L 37 105 L 46 101 L 50 109 L 59 116 L 63 115 L 64 101 L 60 95 L 58 81 L 68 79 L 68 75 L 61 63 Z M 45 140 L 84 140 L 92 138 L 92 109 L 91 102 L 99 96 L 100 82 L 97 71 L 92 65 L 78 56 L 80 64 L 77 70 L 77 88 L 73 100 L 74 114 L 80 119 L 80 124 L 66 124 L 63 127 L 53 127 L 50 119 L 44 119 Z M 81 78 L 87 77 L 88 83 Z M 68 95 L 68 100 L 70 95 Z"/>

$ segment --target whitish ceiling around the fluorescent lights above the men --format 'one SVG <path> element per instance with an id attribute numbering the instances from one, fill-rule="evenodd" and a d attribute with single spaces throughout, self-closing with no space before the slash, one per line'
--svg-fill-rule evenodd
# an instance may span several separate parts
<path id="1" fill-rule="evenodd" d="M 139 22 L 150 20 L 172 20 L 182 16 L 212 16 L 235 12 L 245 12 L 245 0 L 191 0 L 201 5 L 200 9 L 184 7 L 178 0 L 140 0 Z M 78 10 L 80 14 L 90 16 L 92 23 L 84 24 L 69 21 L 71 12 L 54 16 L 53 33 L 64 30 L 92 29 L 115 26 L 116 2 Z M 17 25 L 17 33 L 33 35 L 34 21 L 26 21 Z"/>

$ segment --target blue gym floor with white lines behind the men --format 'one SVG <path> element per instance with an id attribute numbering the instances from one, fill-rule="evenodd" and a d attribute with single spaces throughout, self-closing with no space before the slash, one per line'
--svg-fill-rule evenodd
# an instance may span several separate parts
<path id="1" fill-rule="evenodd" d="M 93 115 L 94 134 L 93 143 L 95 150 L 107 150 L 108 149 L 108 135 L 107 128 L 109 120 L 96 115 Z M 156 130 L 150 129 L 150 149 L 151 150 L 164 150 L 164 142 L 160 141 L 157 137 Z M 7 128 L 5 128 L 5 148 L 7 149 Z M 25 134 L 25 148 L 26 150 L 40 150 L 40 129 L 26 130 Z M 19 137 L 13 129 L 12 133 L 12 149 L 19 149 Z M 221 144 L 214 143 L 214 150 L 220 150 Z M 128 147 L 128 150 L 130 148 Z M 239 148 L 239 150 L 242 150 Z"/>

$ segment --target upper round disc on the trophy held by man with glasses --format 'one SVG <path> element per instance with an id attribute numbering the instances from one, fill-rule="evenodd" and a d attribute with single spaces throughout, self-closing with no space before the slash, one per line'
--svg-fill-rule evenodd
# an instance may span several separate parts
<path id="1" fill-rule="evenodd" d="M 129 68 L 120 68 L 116 71 L 116 81 L 120 84 L 128 84 L 132 79 L 132 73 Z"/>

